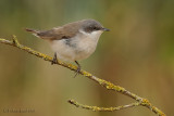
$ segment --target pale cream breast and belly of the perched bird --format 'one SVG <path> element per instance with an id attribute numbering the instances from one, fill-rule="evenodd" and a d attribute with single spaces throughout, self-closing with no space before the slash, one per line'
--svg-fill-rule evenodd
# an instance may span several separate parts
<path id="1" fill-rule="evenodd" d="M 100 35 L 101 33 L 79 34 L 71 39 L 53 40 L 51 48 L 64 61 L 84 60 L 95 52 Z"/>

